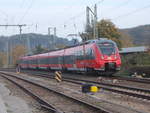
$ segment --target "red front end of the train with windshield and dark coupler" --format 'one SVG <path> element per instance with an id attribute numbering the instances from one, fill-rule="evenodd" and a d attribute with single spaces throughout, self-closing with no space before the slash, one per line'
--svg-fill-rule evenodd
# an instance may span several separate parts
<path id="1" fill-rule="evenodd" d="M 116 72 L 120 70 L 121 59 L 116 43 L 111 40 L 99 41 L 97 44 L 99 53 L 99 70 Z"/>

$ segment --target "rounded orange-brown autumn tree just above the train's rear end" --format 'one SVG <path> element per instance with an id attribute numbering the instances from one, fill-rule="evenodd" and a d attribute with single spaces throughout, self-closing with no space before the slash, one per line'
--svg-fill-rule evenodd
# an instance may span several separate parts
<path id="1" fill-rule="evenodd" d="M 23 45 L 17 45 L 12 49 L 12 59 L 13 65 L 15 65 L 21 56 L 25 56 L 27 53 L 27 48 Z"/>

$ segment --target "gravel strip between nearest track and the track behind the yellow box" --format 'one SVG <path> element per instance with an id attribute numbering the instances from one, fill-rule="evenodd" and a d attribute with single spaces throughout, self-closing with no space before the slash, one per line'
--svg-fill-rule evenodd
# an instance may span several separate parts
<path id="1" fill-rule="evenodd" d="M 112 109 L 112 110 L 114 110 L 114 112 L 115 111 L 118 111 L 119 113 L 134 113 L 134 112 L 136 112 L 136 111 L 130 109 L 130 108 L 133 108 L 132 106 L 127 106 L 126 104 L 121 104 L 121 105 L 125 106 L 125 108 L 123 108 L 120 105 L 112 105 L 112 103 L 109 103 L 109 102 L 117 103 L 117 101 L 116 101 L 117 99 L 121 100 L 122 97 L 120 97 L 117 94 L 111 95 L 111 93 L 108 92 L 108 93 L 110 93 L 110 95 L 109 95 L 105 92 L 100 91 L 100 93 L 96 93 L 94 96 L 91 96 L 91 95 L 81 93 L 80 87 L 78 85 L 75 85 L 72 83 L 67 83 L 64 81 L 62 83 L 57 83 L 55 80 L 43 79 L 43 78 L 38 78 L 38 77 L 35 78 L 35 77 L 31 77 L 31 76 L 26 76 L 26 74 L 20 74 L 20 75 L 21 75 L 21 77 L 32 79 L 32 81 L 47 85 L 48 87 L 54 88 L 55 90 L 58 90 L 60 92 L 65 92 L 66 94 L 68 94 L 72 97 L 80 98 L 84 101 L 90 102 L 92 104 L 96 104 L 96 105 L 101 106 L 106 109 Z M 106 95 L 106 96 L 101 97 L 101 95 Z M 109 99 L 109 102 L 108 102 L 107 96 L 111 98 L 111 99 Z M 131 99 L 129 98 L 128 101 L 132 101 Z M 120 103 L 117 103 L 117 104 L 120 104 Z M 129 108 L 127 109 L 126 107 L 129 107 Z M 142 111 L 142 113 L 145 111 L 147 111 L 147 110 Z"/>

